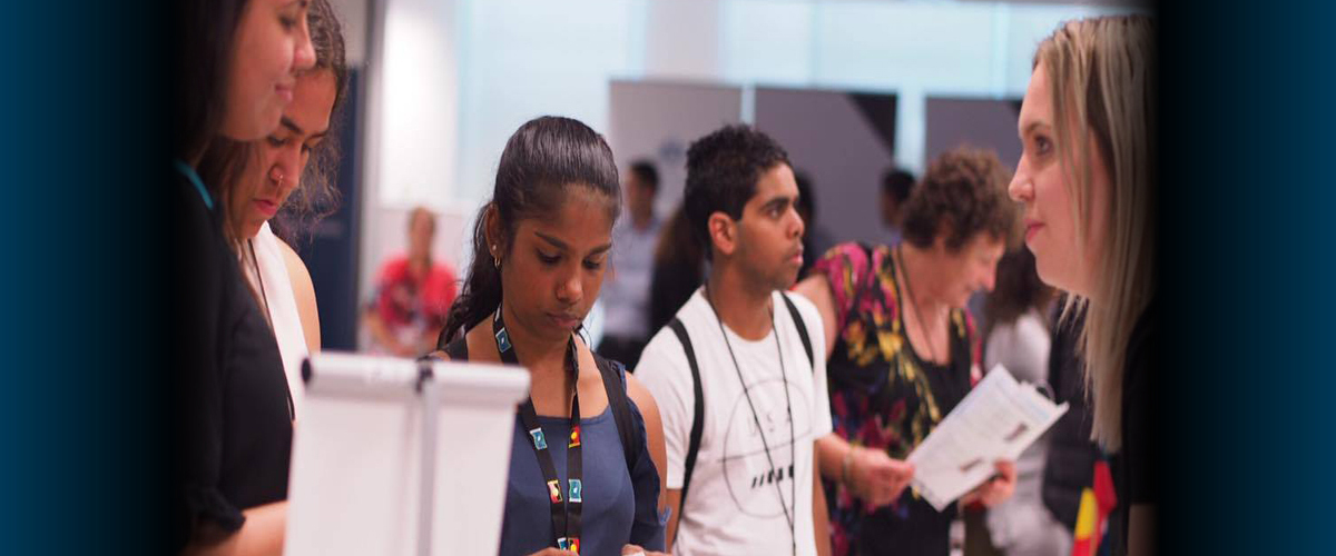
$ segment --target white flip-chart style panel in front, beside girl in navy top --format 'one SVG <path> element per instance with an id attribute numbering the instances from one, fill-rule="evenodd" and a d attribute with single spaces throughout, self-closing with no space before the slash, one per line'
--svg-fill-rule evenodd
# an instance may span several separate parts
<path id="1" fill-rule="evenodd" d="M 434 363 L 420 383 L 415 361 L 342 353 L 310 368 L 285 553 L 496 553 L 528 372 Z"/>

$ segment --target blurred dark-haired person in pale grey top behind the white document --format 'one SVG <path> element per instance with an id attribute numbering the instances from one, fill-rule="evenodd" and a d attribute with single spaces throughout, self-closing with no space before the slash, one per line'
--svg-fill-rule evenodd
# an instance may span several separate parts
<path id="1" fill-rule="evenodd" d="M 1002 365 L 1018 381 L 1047 383 L 1051 304 L 1053 289 L 1039 281 L 1030 249 L 1021 247 L 1003 255 L 997 284 L 987 296 L 991 319 L 983 332 L 985 372 Z M 1015 495 L 987 511 L 991 544 L 1007 556 L 1071 552 L 1071 532 L 1051 517 L 1041 496 L 1047 448 L 1045 435 L 1021 453 L 1015 461 Z"/>

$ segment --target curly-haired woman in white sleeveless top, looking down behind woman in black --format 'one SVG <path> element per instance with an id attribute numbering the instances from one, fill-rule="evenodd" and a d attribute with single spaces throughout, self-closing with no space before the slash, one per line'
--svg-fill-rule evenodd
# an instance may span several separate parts
<path id="1" fill-rule="evenodd" d="M 339 153 L 329 137 L 330 116 L 347 84 L 343 31 L 330 3 L 311 3 L 307 21 L 315 67 L 297 76 L 278 129 L 259 141 L 214 141 L 200 163 L 206 181 L 235 181 L 227 233 L 278 340 L 297 415 L 305 400 L 302 361 L 321 349 L 319 311 L 306 264 L 270 220 L 286 223 L 287 239 L 295 240 L 298 228 L 309 229 L 337 208 Z"/>

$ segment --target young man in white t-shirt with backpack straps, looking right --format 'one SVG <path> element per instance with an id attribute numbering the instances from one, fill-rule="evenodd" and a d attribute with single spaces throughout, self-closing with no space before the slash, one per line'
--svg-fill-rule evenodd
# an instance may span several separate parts
<path id="1" fill-rule="evenodd" d="M 660 329 L 636 369 L 663 417 L 676 555 L 830 553 L 812 457 L 814 441 L 831 432 L 826 337 L 816 308 L 794 295 L 790 305 L 783 293 L 803 263 L 796 199 L 788 156 L 752 128 L 725 127 L 687 152 L 683 203 L 709 276 L 677 312 L 680 332 Z M 701 392 L 691 469 L 696 383 L 679 333 Z"/>

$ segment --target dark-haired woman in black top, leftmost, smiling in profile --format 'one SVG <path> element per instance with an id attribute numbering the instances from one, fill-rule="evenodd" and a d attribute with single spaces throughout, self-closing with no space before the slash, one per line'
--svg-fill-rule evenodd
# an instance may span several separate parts
<path id="1" fill-rule="evenodd" d="M 274 335 L 222 235 L 226 184 L 195 168 L 219 136 L 278 127 L 314 63 L 305 0 L 183 0 L 176 7 L 172 165 L 172 539 L 188 553 L 281 553 L 291 405 Z"/>

